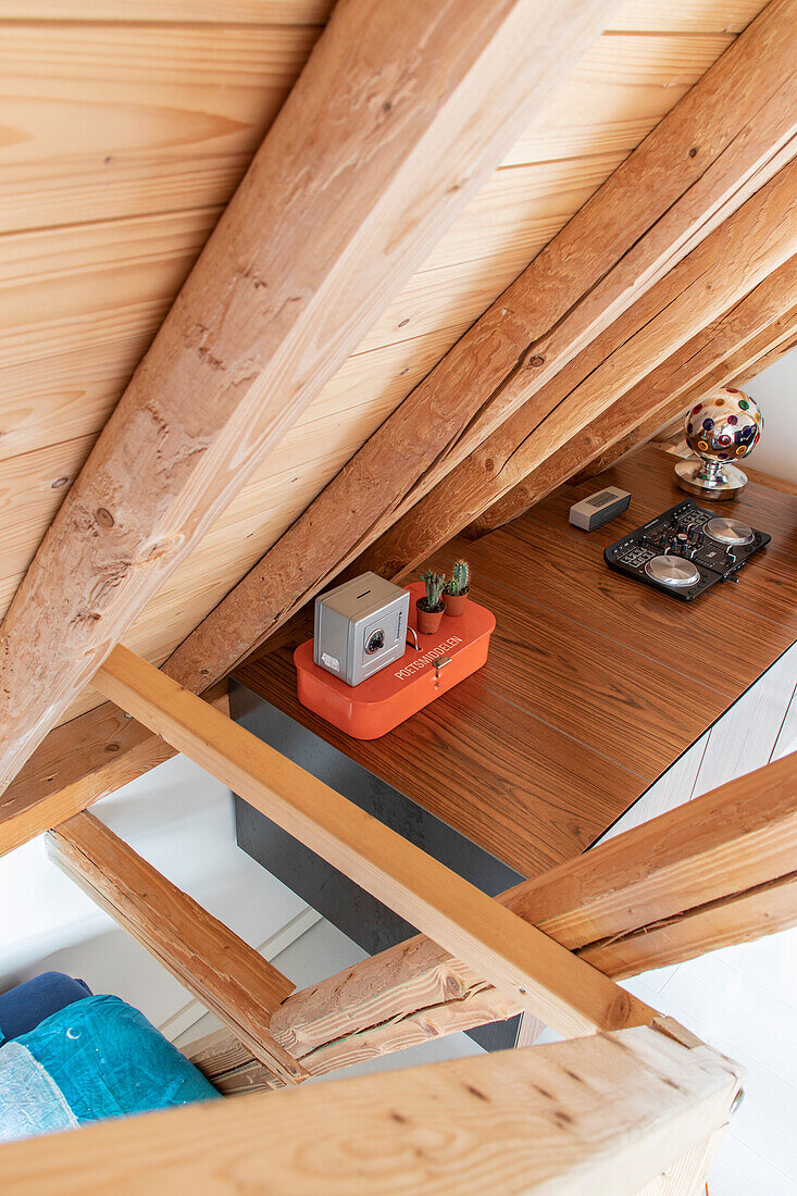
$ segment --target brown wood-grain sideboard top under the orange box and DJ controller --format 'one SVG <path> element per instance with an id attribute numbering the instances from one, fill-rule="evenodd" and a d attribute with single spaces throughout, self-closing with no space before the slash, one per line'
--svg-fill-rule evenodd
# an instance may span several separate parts
<path id="1" fill-rule="evenodd" d="M 685 498 L 673 465 L 646 447 L 597 480 L 561 487 L 506 527 L 437 554 L 433 563 L 446 569 L 458 555 L 469 560 L 473 594 L 497 617 L 489 659 L 382 739 L 349 739 L 298 703 L 292 645 L 236 678 L 515 872 L 530 877 L 572 858 L 623 814 L 633 818 L 626 812 L 653 786 L 671 804 L 687 800 L 695 745 L 707 750 L 710 728 L 768 670 L 773 709 L 785 712 L 795 689 L 797 652 L 785 655 L 797 637 L 789 487 L 750 481 L 732 505 L 701 502 L 769 532 L 772 543 L 738 581 L 694 603 L 604 565 L 607 544 Z M 604 483 L 631 490 L 626 514 L 590 533 L 571 526 L 571 504 Z M 718 763 L 735 771 L 763 762 L 761 702 L 748 698 L 743 718 L 748 708 L 749 728 L 713 736 Z"/>

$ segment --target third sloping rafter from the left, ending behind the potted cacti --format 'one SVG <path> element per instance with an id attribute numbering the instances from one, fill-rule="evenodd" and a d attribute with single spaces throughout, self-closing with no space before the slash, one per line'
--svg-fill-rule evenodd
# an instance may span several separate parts
<path id="1" fill-rule="evenodd" d="M 414 506 L 357 561 L 398 578 L 543 465 L 592 420 L 797 254 L 797 161 L 667 277 Z M 645 410 L 643 410 L 645 414 Z M 573 472 L 571 463 L 570 474 Z M 570 475 L 567 475 L 570 476 Z"/>

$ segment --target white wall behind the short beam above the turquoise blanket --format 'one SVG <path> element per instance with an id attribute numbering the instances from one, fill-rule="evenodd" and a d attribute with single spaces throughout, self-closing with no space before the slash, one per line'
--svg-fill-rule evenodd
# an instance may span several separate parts
<path id="1" fill-rule="evenodd" d="M 183 756 L 93 812 L 253 946 L 276 935 L 268 956 L 317 920 L 238 849 L 229 791 Z M 285 927 L 287 933 L 278 933 Z M 123 997 L 157 1026 L 190 1002 L 177 981 L 50 864 L 38 838 L 0 859 L 0 990 L 48 969 Z M 175 1031 L 187 1020 L 190 1013 Z"/>

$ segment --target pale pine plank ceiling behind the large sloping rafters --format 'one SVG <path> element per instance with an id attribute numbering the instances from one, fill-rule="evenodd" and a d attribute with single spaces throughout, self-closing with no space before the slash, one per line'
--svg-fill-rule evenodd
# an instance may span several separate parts
<path id="1" fill-rule="evenodd" d="M 330 7 L 0 0 L 0 615 Z M 617 10 L 130 648 L 174 651 L 762 7 Z"/>

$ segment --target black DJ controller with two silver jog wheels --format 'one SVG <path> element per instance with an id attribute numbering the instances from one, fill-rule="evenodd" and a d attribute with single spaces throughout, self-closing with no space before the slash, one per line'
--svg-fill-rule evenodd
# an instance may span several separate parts
<path id="1" fill-rule="evenodd" d="M 690 602 L 731 578 L 771 538 L 687 500 L 609 545 L 603 557 L 610 568 Z"/>

